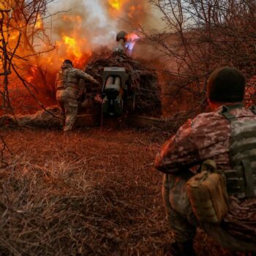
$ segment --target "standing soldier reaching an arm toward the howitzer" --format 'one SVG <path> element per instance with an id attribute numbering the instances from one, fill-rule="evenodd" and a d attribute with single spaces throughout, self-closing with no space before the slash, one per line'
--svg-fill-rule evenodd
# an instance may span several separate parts
<path id="1" fill-rule="evenodd" d="M 78 114 L 78 99 L 84 91 L 83 80 L 99 86 L 97 80 L 80 69 L 73 67 L 72 61 L 66 59 L 56 77 L 56 99 L 61 106 L 61 118 L 64 120 L 64 132 L 72 130 Z"/>

